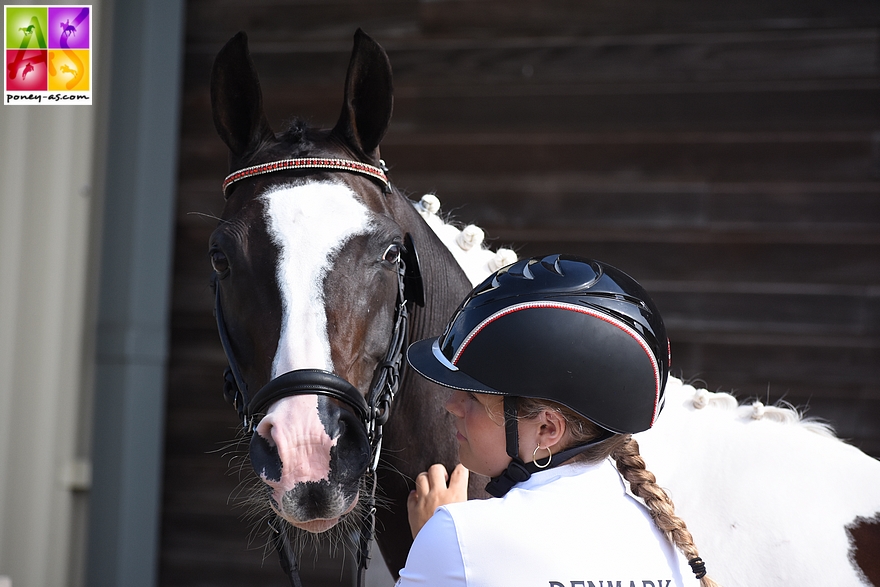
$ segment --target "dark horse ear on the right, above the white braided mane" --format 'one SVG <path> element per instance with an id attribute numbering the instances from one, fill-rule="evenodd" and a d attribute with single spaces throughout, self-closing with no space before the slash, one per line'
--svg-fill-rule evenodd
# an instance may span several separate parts
<path id="1" fill-rule="evenodd" d="M 345 102 L 333 132 L 357 152 L 377 162 L 379 143 L 391 122 L 393 94 L 388 55 L 358 29 L 345 78 Z"/>

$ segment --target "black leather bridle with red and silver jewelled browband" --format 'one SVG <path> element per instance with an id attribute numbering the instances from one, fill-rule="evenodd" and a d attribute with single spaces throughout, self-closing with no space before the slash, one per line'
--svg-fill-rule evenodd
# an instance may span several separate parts
<path id="1" fill-rule="evenodd" d="M 386 194 L 391 193 L 391 183 L 385 174 L 387 168 L 374 167 L 360 161 L 334 158 L 298 158 L 283 159 L 246 167 L 231 173 L 223 181 L 223 195 L 228 198 L 227 188 L 234 182 L 253 177 L 286 170 L 332 170 L 364 175 L 382 184 Z M 214 287 L 214 316 L 220 334 L 220 344 L 226 355 L 228 367 L 223 374 L 223 395 L 238 411 L 245 433 L 253 433 L 261 414 L 279 399 L 293 395 L 325 395 L 336 399 L 358 416 L 364 426 L 370 445 L 370 461 L 365 471 L 367 477 L 367 515 L 362 520 L 360 540 L 358 544 L 358 585 L 365 584 L 366 569 L 370 562 L 370 542 L 376 529 L 376 485 L 377 468 L 382 453 L 382 429 L 387 423 L 394 401 L 400 387 L 400 369 L 403 363 L 403 347 L 406 340 L 406 328 L 409 314 L 407 301 L 424 304 L 421 276 L 418 267 L 418 256 L 409 234 L 404 239 L 404 254 L 397 266 L 397 299 L 394 308 L 394 327 L 388 349 L 382 361 L 376 366 L 373 381 L 366 399 L 354 385 L 329 371 L 321 369 L 297 369 L 289 371 L 269 381 L 250 395 L 241 369 L 232 352 L 223 308 L 220 302 L 220 279 L 215 273 L 212 278 Z M 408 299 L 409 298 L 409 299 Z M 270 524 L 274 532 L 273 540 L 281 567 L 290 579 L 292 587 L 302 587 L 296 562 L 296 554 L 290 545 L 287 533 Z"/>

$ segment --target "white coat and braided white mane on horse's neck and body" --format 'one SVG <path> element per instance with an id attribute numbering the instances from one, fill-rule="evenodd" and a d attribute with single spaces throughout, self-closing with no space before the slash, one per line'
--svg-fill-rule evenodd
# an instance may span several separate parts
<path id="1" fill-rule="evenodd" d="M 479 228 L 444 222 L 435 196 L 415 206 L 474 284 L 516 260 L 484 248 Z M 880 461 L 829 425 L 669 377 L 657 424 L 635 438 L 719 584 L 871 584 L 848 528 L 878 519 Z"/>

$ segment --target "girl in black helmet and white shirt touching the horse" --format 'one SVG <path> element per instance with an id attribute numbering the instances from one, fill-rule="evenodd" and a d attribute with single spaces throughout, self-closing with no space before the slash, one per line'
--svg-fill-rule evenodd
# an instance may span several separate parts
<path id="1" fill-rule="evenodd" d="M 631 436 L 663 407 L 668 349 L 647 293 L 598 261 L 525 259 L 477 286 L 407 353 L 454 390 L 464 467 L 416 479 L 398 585 L 715 585 Z M 468 469 L 497 499 L 465 501 Z"/>

